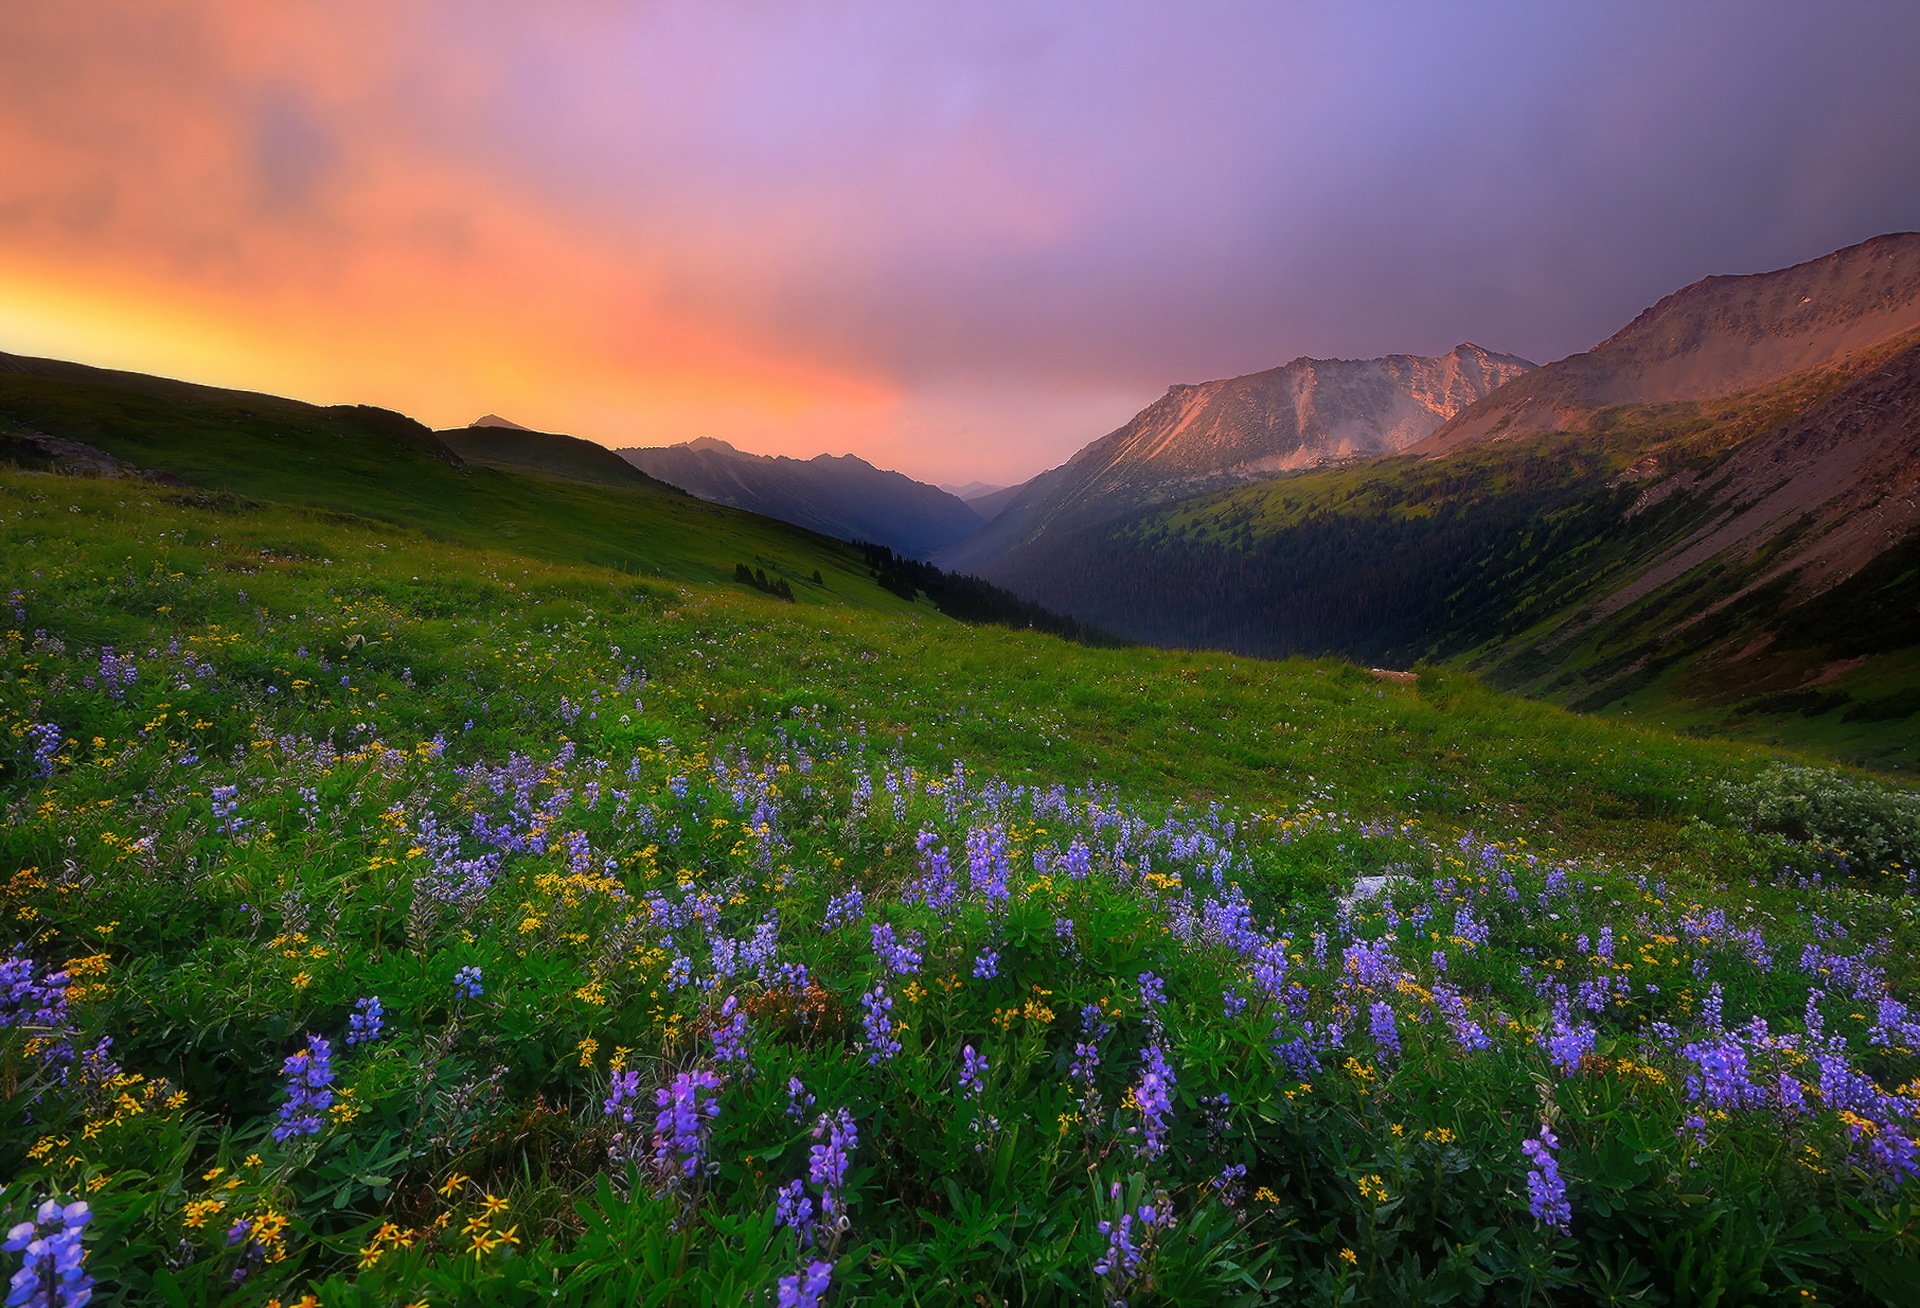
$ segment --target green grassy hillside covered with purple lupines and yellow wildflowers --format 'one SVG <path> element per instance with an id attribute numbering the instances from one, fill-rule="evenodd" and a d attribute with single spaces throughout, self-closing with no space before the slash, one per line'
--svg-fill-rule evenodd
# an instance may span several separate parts
<path id="1" fill-rule="evenodd" d="M 1452 670 L 962 626 L 390 415 L 194 401 L 253 409 L 228 440 L 8 386 L 15 432 L 65 403 L 194 482 L 0 471 L 29 1285 L 56 1248 L 94 1302 L 236 1308 L 1920 1277 L 1912 793 Z M 837 572 L 770 599 L 749 542 Z"/>

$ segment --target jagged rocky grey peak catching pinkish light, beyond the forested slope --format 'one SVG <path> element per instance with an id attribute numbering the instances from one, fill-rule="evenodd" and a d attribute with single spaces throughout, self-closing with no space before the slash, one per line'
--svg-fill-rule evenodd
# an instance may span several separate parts
<path id="1" fill-rule="evenodd" d="M 1041 472 L 985 530 L 941 555 L 991 576 L 1048 532 L 1208 490 L 1394 453 L 1526 359 L 1455 346 L 1440 357 L 1294 359 L 1248 376 L 1171 386 L 1119 430 Z"/>

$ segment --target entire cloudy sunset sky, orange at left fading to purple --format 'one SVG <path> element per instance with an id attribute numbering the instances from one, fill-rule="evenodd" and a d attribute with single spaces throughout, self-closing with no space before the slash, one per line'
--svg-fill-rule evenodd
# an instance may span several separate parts
<path id="1" fill-rule="evenodd" d="M 0 350 L 1014 482 L 1920 229 L 1920 4 L 0 4 Z"/>

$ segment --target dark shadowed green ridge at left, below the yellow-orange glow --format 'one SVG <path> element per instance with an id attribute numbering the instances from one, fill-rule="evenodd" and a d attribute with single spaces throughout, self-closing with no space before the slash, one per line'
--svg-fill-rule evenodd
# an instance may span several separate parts
<path id="1" fill-rule="evenodd" d="M 522 442 L 543 457 L 586 444 L 511 430 L 480 436 Z M 553 467 L 468 463 L 420 423 L 386 409 L 321 407 L 0 353 L 0 459 L 73 463 L 52 457 L 46 442 L 182 482 L 194 503 L 269 501 L 328 521 L 351 517 L 396 532 L 397 549 L 436 540 L 728 586 L 745 563 L 787 580 L 803 607 L 929 613 L 877 586 L 845 542 L 703 503 L 611 451 L 599 453 L 628 484 L 595 484 Z"/>

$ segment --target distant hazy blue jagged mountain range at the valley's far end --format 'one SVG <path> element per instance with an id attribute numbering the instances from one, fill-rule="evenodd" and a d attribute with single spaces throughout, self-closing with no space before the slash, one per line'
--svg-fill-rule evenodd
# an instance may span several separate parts
<path id="1" fill-rule="evenodd" d="M 620 449 L 622 459 L 670 486 L 797 522 L 841 540 L 870 540 L 924 559 L 975 530 L 981 519 L 958 497 L 854 455 L 745 453 L 703 436 L 680 446 Z"/>

